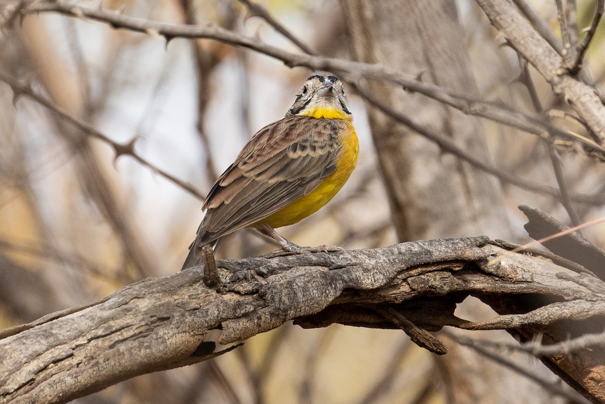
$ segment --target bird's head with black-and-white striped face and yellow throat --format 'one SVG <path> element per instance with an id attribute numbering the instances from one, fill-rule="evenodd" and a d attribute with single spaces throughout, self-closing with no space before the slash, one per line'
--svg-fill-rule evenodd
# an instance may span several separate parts
<path id="1" fill-rule="evenodd" d="M 286 116 L 352 119 L 341 80 L 336 76 L 311 76 L 304 82 Z"/>

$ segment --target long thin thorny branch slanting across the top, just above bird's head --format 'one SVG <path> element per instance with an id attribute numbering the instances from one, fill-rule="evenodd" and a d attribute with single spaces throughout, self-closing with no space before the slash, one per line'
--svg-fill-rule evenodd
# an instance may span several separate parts
<path id="1" fill-rule="evenodd" d="M 22 13 L 25 14 L 41 12 L 56 12 L 76 18 L 93 19 L 114 28 L 124 28 L 156 37 L 163 37 L 168 42 L 177 37 L 215 39 L 216 41 L 224 42 L 226 44 L 241 46 L 266 54 L 267 56 L 283 61 L 288 67 L 307 67 L 312 70 L 329 70 L 348 73 L 351 74 L 353 80 L 358 77 L 365 77 L 371 80 L 390 82 L 395 85 L 403 86 L 408 91 L 424 94 L 425 96 L 443 102 L 446 105 L 450 105 L 453 108 L 460 109 L 460 111 L 465 112 L 465 114 L 491 119 L 495 122 L 540 136 L 550 133 L 551 135 L 563 137 L 572 142 L 578 142 L 578 140 L 580 140 L 586 148 L 605 156 L 605 149 L 601 145 L 597 145 L 587 139 L 578 139 L 577 137 L 568 134 L 566 131 L 546 122 L 543 117 L 528 116 L 527 114 L 523 114 L 523 112 L 515 111 L 506 106 L 472 99 L 468 97 L 466 93 L 445 90 L 437 85 L 423 82 L 417 77 L 404 74 L 401 71 L 383 65 L 365 64 L 362 62 L 313 56 L 310 54 L 291 53 L 281 48 L 273 47 L 272 45 L 263 44 L 255 39 L 216 25 L 206 25 L 202 27 L 199 25 L 163 24 L 160 22 L 125 16 L 117 12 L 100 10 L 98 8 L 79 7 L 63 2 L 42 1 L 32 4 L 25 8 L 25 10 L 22 10 Z M 558 55 L 557 57 L 560 59 Z M 564 90 L 567 90 L 568 87 L 569 86 L 561 86 Z M 574 106 L 576 106 L 576 102 L 578 101 L 575 99 L 575 95 L 576 93 L 571 94 L 571 96 L 574 96 L 571 98 L 571 100 L 574 101 Z M 598 112 L 595 110 L 591 97 L 587 97 L 586 102 L 590 103 L 589 109 L 591 112 Z M 580 102 L 580 104 L 584 104 L 584 101 Z M 603 116 L 605 117 L 605 107 L 601 105 L 601 108 L 604 109 Z M 594 118 L 593 116 L 584 117 L 583 112 L 580 113 L 580 116 L 586 120 L 589 127 L 593 129 L 595 133 L 603 134 L 603 138 L 605 138 L 605 118 L 602 119 L 604 128 L 601 130 L 600 125 L 597 125 L 600 121 L 595 122 L 595 119 L 587 119 L 591 117 Z"/>

